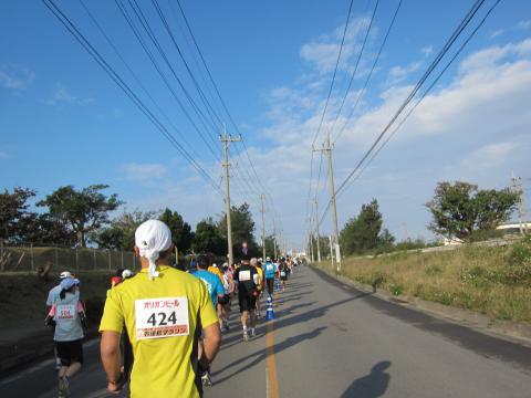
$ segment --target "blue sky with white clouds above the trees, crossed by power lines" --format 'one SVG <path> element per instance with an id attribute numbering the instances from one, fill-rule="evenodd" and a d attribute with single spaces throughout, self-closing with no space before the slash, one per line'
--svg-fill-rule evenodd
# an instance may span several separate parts
<path id="1" fill-rule="evenodd" d="M 244 143 L 229 145 L 232 205 L 250 203 L 258 237 L 259 195 L 266 191 L 267 233 L 274 218 L 288 244 L 301 248 L 315 195 L 320 232 L 332 232 L 330 212 L 322 217 L 330 200 L 327 163 L 312 144 L 321 148 L 330 132 L 337 188 L 472 1 L 403 0 L 371 74 L 399 0 L 354 0 L 343 46 L 350 1 L 180 0 L 216 86 L 179 2 L 138 1 L 148 30 L 134 3 L 54 1 L 174 144 L 43 2 L 1 1 L 0 189 L 29 187 L 40 199 L 60 186 L 106 184 L 107 193 L 126 202 L 122 210 L 169 207 L 195 227 L 225 208 L 218 136 L 226 124 Z M 493 3 L 485 1 L 419 94 Z M 530 104 L 531 2 L 502 0 L 388 144 L 337 195 L 340 229 L 375 198 L 398 240 L 433 240 L 424 203 L 440 181 L 499 189 L 514 175 L 529 193 Z"/>

